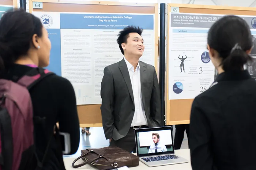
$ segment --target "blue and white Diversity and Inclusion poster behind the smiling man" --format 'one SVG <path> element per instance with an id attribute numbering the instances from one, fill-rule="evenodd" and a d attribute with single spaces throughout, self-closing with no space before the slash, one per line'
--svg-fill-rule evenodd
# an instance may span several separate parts
<path id="1" fill-rule="evenodd" d="M 33 12 L 48 30 L 52 43 L 52 72 L 67 78 L 76 93 L 76 102 L 101 104 L 101 81 L 106 66 L 121 61 L 116 42 L 126 26 L 143 28 L 145 50 L 141 61 L 155 64 L 154 14 Z"/>

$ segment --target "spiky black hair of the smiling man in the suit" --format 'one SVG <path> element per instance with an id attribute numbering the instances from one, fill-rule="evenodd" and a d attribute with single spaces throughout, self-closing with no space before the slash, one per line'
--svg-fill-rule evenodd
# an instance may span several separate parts
<path id="1" fill-rule="evenodd" d="M 122 43 L 127 43 L 127 38 L 129 38 L 129 33 L 132 33 L 132 32 L 136 32 L 139 35 L 142 35 L 143 29 L 135 26 L 127 26 L 118 34 L 118 38 L 116 41 L 123 55 L 124 55 L 124 50 L 122 48 Z"/>

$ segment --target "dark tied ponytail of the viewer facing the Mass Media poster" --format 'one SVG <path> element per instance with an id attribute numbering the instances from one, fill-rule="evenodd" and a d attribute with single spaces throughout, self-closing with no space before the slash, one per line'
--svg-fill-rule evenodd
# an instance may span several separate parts
<path id="1" fill-rule="evenodd" d="M 244 64 L 251 59 L 252 57 L 249 56 L 238 43 L 236 43 L 228 57 L 223 59 L 222 67 L 225 71 L 241 70 Z"/>

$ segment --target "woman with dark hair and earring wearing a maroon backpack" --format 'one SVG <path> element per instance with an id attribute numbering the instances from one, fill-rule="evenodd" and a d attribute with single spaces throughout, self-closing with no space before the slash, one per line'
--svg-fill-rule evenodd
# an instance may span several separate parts
<path id="1" fill-rule="evenodd" d="M 64 144 L 59 132 L 70 136 L 70 143 L 65 143 L 70 148 L 66 154 L 75 154 L 78 150 L 79 119 L 73 86 L 67 79 L 42 69 L 49 65 L 50 50 L 48 32 L 39 18 L 21 9 L 7 12 L 1 18 L 0 89 L 5 93 L 0 90 L 0 97 L 1 105 L 7 109 L 0 109 L 0 115 L 6 116 L 0 116 L 0 124 L 3 128 L 5 120 L 11 117 L 9 125 L 5 124 L 12 130 L 9 131 L 12 136 L 4 134 L 2 138 L 3 131 L 8 130 L 0 129 L 1 143 L 7 146 L 5 141 L 10 142 L 8 151 L 7 147 L 0 146 L 4 166 L 12 164 L 20 170 L 36 167 L 64 170 Z M 16 97 L 10 97 L 12 95 Z M 57 122 L 59 129 L 55 128 Z M 5 159 L 11 154 L 14 160 Z"/>

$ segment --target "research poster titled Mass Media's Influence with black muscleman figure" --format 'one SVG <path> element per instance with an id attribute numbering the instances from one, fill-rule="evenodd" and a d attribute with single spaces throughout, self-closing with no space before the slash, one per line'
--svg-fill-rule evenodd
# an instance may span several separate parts
<path id="1" fill-rule="evenodd" d="M 214 82 L 215 69 L 207 50 L 207 33 L 223 16 L 170 13 L 169 100 L 195 98 Z M 239 16 L 249 24 L 252 35 L 256 35 L 256 18 Z M 251 55 L 256 56 L 256 50 Z"/>

